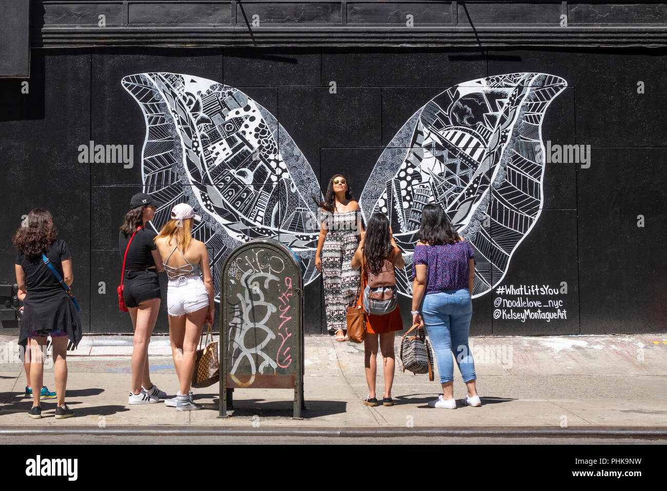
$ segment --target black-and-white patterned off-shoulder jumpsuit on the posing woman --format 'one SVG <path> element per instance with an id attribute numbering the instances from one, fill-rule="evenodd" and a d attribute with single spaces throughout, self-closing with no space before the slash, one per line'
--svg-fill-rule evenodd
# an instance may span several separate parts
<path id="1" fill-rule="evenodd" d="M 352 258 L 359 244 L 357 218 L 361 210 L 327 214 L 329 232 L 322 246 L 322 278 L 326 303 L 327 329 L 334 333 L 348 329 L 346 315 L 352 307 L 359 283 L 359 271 Z"/>

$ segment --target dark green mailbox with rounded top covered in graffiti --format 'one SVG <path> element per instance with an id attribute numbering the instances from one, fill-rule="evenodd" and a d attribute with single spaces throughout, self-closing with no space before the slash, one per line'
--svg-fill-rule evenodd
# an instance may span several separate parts
<path id="1" fill-rule="evenodd" d="M 303 282 L 292 251 L 258 238 L 225 260 L 220 287 L 220 416 L 228 389 L 294 389 L 303 405 Z"/>

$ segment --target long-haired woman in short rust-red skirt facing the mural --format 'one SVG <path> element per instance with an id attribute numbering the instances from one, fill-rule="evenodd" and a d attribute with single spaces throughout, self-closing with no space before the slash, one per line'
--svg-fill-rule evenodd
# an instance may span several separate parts
<path id="1" fill-rule="evenodd" d="M 352 259 L 352 268 L 360 269 L 364 266 L 361 288 L 366 288 L 369 277 L 394 277 L 394 267 L 402 268 L 406 265 L 401 250 L 398 249 L 389 220 L 382 213 L 375 213 L 368 220 L 366 234 L 362 238 L 359 248 Z M 391 281 L 390 281 L 391 283 Z M 385 285 L 388 283 L 384 283 Z M 373 283 L 371 283 L 373 286 Z M 394 295 L 396 283 L 394 279 Z M 366 368 L 366 382 L 368 383 L 368 397 L 364 404 L 376 406 L 376 373 L 378 370 L 378 335 L 382 350 L 382 365 L 384 367 L 384 398 L 382 405 L 394 405 L 392 400 L 392 385 L 394 384 L 394 332 L 403 329 L 403 320 L 398 304 L 394 310 L 384 315 L 366 315 L 366 335 L 364 335 L 364 367 Z"/>

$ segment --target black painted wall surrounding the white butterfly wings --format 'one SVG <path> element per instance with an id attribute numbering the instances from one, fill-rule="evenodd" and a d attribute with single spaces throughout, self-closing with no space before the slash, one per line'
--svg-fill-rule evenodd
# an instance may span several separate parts
<path id="1" fill-rule="evenodd" d="M 665 54 L 619 48 L 499 49 L 483 55 L 426 48 L 33 49 L 28 94 L 21 92 L 22 79 L 0 80 L 0 283 L 15 281 L 11 236 L 21 216 L 36 206 L 47 208 L 73 252 L 73 288 L 85 329 L 131 331 L 115 295 L 121 266 L 117 228 L 130 196 L 141 190 L 145 124 L 120 84 L 125 75 L 187 73 L 242 90 L 287 130 L 321 186 L 341 172 L 359 196 L 394 134 L 440 92 L 478 77 L 544 72 L 566 79 L 568 88 L 546 110 L 542 140 L 590 145 L 590 168 L 546 164 L 542 215 L 500 284 L 560 289 L 566 282 L 566 295 L 540 298 L 564 300 L 566 319 L 494 319 L 496 298 L 520 295 L 490 292 L 474 300 L 471 331 L 664 332 Z M 330 81 L 336 81 L 336 94 L 329 92 Z M 90 140 L 132 144 L 133 168 L 80 164 L 77 148 Z M 643 227 L 637 226 L 638 215 L 644 216 Z M 99 282 L 105 282 L 105 294 L 98 293 Z M 305 305 L 305 331 L 325 332 L 319 279 L 307 286 Z M 408 299 L 400 305 L 408 314 Z M 156 331 L 167 331 L 164 313 Z"/>

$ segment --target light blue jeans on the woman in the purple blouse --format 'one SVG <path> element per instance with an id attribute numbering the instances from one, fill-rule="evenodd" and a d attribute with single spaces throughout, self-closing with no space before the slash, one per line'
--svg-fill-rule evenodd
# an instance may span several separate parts
<path id="1" fill-rule="evenodd" d="M 468 347 L 471 317 L 472 299 L 467 288 L 424 295 L 422 318 L 436 352 L 441 383 L 454 380 L 452 354 L 464 382 L 477 378 L 475 363 Z"/>

